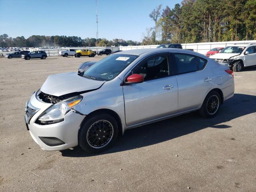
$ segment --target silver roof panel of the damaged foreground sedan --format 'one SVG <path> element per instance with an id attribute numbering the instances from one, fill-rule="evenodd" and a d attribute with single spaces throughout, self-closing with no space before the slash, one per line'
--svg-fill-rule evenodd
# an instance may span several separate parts
<path id="1" fill-rule="evenodd" d="M 161 52 L 167 52 L 167 51 L 178 51 L 178 52 L 183 52 L 183 53 L 188 53 L 188 54 L 196 54 L 196 52 L 194 52 L 194 51 L 185 50 L 185 49 L 177 49 L 177 48 L 133 49 L 133 50 L 117 52 L 115 54 L 142 55 L 142 54 L 161 53 Z"/>

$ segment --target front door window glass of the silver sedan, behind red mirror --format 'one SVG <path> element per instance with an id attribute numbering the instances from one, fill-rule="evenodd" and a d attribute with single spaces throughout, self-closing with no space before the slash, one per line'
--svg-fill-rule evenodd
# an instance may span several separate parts
<path id="1" fill-rule="evenodd" d="M 169 76 L 168 56 L 161 55 L 144 60 L 132 71 L 132 74 L 135 73 L 143 75 L 145 81 Z"/>

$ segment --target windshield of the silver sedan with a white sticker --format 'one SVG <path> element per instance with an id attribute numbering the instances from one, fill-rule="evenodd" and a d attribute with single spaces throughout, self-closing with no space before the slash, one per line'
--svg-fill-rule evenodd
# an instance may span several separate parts
<path id="1" fill-rule="evenodd" d="M 115 54 L 100 60 L 86 72 L 83 77 L 99 81 L 110 81 L 114 79 L 122 70 L 130 65 L 138 56 L 128 54 Z"/>

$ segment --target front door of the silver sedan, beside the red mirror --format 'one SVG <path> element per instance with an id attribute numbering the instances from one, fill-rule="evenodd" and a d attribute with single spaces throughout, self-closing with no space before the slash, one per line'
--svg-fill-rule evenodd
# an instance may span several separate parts
<path id="1" fill-rule="evenodd" d="M 144 82 L 123 86 L 127 126 L 177 112 L 178 84 L 169 56 L 169 53 L 149 56 L 130 73 L 143 75 Z"/>

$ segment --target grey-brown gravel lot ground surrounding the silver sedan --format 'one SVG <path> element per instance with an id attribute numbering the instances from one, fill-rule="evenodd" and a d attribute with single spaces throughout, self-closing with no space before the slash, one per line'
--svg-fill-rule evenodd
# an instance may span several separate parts
<path id="1" fill-rule="evenodd" d="M 43 151 L 24 107 L 50 74 L 94 58 L 0 58 L 0 191 L 256 191 L 256 67 L 235 73 L 235 94 L 212 119 L 197 112 L 125 132 L 94 156 Z"/>

